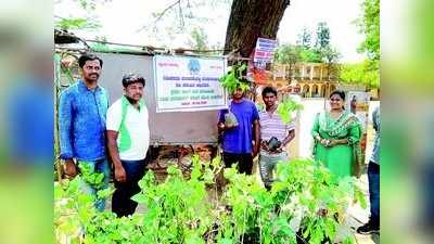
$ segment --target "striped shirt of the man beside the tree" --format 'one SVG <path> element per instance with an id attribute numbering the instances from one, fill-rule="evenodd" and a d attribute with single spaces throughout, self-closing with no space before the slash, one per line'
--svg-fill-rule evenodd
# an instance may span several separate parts
<path id="1" fill-rule="evenodd" d="M 277 110 L 270 115 L 267 111 L 259 112 L 260 140 L 268 141 L 276 137 L 279 141 L 283 141 L 288 132 L 295 129 L 294 123 L 283 123 L 277 113 Z"/>

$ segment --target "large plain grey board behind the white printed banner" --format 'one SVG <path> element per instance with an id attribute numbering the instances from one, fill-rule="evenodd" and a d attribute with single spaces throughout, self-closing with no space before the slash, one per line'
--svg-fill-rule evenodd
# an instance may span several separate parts
<path id="1" fill-rule="evenodd" d="M 123 95 L 122 78 L 126 73 L 142 75 L 146 80 L 143 95 L 152 145 L 217 143 L 218 111 L 156 113 L 153 55 L 95 54 L 104 61 L 99 84 L 110 93 L 111 103 Z"/>

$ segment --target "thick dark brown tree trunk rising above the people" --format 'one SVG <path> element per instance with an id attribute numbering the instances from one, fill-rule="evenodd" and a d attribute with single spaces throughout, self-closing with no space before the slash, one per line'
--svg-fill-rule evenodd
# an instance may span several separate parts
<path id="1" fill-rule="evenodd" d="M 239 49 L 248 57 L 258 37 L 276 39 L 290 0 L 233 0 L 226 30 L 225 54 Z"/>

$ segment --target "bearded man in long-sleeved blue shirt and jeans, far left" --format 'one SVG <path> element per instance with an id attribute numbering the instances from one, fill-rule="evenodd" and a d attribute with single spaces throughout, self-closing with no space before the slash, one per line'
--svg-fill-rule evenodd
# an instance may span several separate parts
<path id="1" fill-rule="evenodd" d="M 84 181 L 84 190 L 97 195 L 98 190 L 108 185 L 110 166 L 105 152 L 105 116 L 108 95 L 98 85 L 102 60 L 92 54 L 78 59 L 82 79 L 64 90 L 59 105 L 60 157 L 64 159 L 66 176 L 77 175 L 77 166 L 89 172 L 104 174 L 103 183 L 92 185 Z M 74 162 L 76 160 L 76 163 Z M 99 210 L 104 210 L 105 201 L 95 202 Z"/>

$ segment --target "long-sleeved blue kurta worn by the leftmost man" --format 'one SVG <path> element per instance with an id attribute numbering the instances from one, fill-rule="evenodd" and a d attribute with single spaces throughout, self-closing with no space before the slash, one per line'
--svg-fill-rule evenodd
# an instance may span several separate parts
<path id="1" fill-rule="evenodd" d="M 89 90 L 82 80 L 62 92 L 59 104 L 60 147 L 63 159 L 105 158 L 105 115 L 108 95 L 104 88 Z"/>

